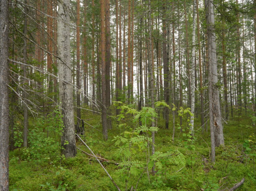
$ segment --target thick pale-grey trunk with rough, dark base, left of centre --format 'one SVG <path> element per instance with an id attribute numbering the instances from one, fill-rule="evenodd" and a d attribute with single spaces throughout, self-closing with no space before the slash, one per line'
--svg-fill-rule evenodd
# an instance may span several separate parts
<path id="1" fill-rule="evenodd" d="M 70 0 L 59 2 L 59 19 L 58 19 L 58 38 L 59 48 L 59 97 L 63 114 L 63 136 L 61 137 L 61 150 L 65 157 L 76 156 L 75 140 L 75 122 L 72 98 L 72 75 L 71 75 L 71 58 L 70 58 L 70 29 L 69 29 L 69 10 Z M 68 144 L 65 144 L 68 141 Z"/>

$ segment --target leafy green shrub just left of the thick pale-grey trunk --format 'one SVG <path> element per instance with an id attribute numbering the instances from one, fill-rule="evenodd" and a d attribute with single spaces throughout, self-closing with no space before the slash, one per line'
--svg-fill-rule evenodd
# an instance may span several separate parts
<path id="1" fill-rule="evenodd" d="M 21 158 L 26 161 L 50 161 L 56 163 L 60 159 L 60 155 L 56 155 L 60 151 L 59 138 L 62 135 L 63 121 L 62 115 L 58 110 L 54 110 L 48 116 L 41 116 L 29 130 L 28 148 L 21 148 Z M 15 126 L 14 140 L 15 146 L 20 147 L 22 140 L 22 132 L 17 131 Z M 57 140 L 56 140 L 57 139 Z M 68 144 L 68 143 L 64 143 Z"/>

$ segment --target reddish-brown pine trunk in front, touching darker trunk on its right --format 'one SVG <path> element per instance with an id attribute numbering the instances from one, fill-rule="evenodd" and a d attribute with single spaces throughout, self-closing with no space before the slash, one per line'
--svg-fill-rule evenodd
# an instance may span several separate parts
<path id="1" fill-rule="evenodd" d="M 106 51 L 105 51 L 105 1 L 100 0 L 100 39 L 101 39 L 101 83 L 102 83 L 102 103 L 101 103 L 101 119 L 102 119 L 102 132 L 104 140 L 108 139 L 107 136 L 107 109 L 106 109 Z"/>

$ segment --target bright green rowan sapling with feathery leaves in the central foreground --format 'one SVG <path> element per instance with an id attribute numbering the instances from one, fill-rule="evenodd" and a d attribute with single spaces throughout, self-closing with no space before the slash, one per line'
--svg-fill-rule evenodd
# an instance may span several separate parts
<path id="1" fill-rule="evenodd" d="M 120 104 L 120 103 L 118 103 Z M 167 107 L 165 102 L 157 102 L 158 107 Z M 120 113 L 136 114 L 134 116 L 133 123 L 140 122 L 140 126 L 137 126 L 133 131 L 124 131 L 121 136 L 114 136 L 112 141 L 115 141 L 115 146 L 118 146 L 117 156 L 122 159 L 119 164 L 119 169 L 116 170 L 116 174 L 120 176 L 126 182 L 132 181 L 135 176 L 139 176 L 144 173 L 145 170 L 151 169 L 155 166 L 158 176 L 153 181 L 153 185 L 158 188 L 160 185 L 163 186 L 162 176 L 166 176 L 166 168 L 169 165 L 181 165 L 186 164 L 185 156 L 178 150 L 175 152 L 169 150 L 167 152 L 156 151 L 150 156 L 150 145 L 152 144 L 152 132 L 157 132 L 158 127 L 151 127 L 150 122 L 158 117 L 157 113 L 153 108 L 142 107 L 141 111 L 136 112 L 122 105 L 119 107 Z M 125 116 L 124 116 L 125 117 Z M 138 160 L 138 154 L 145 153 L 144 158 Z M 160 177 L 160 178 L 159 178 Z"/>

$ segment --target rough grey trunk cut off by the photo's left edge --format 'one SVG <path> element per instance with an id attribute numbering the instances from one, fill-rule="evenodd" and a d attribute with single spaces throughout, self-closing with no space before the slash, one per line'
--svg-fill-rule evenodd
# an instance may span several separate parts
<path id="1" fill-rule="evenodd" d="M 0 1 L 0 190 L 9 190 L 8 0 Z"/>

